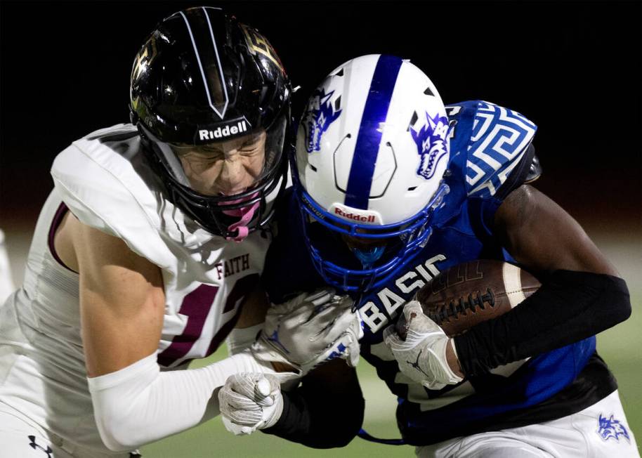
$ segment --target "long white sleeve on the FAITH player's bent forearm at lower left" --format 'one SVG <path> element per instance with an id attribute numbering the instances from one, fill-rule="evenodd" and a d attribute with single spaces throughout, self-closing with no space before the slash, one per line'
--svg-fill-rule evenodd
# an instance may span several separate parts
<path id="1" fill-rule="evenodd" d="M 218 388 L 239 372 L 275 373 L 249 351 L 199 369 L 160 372 L 153 353 L 117 372 L 88 378 L 100 438 L 110 450 L 122 452 L 191 428 L 218 415 Z"/>

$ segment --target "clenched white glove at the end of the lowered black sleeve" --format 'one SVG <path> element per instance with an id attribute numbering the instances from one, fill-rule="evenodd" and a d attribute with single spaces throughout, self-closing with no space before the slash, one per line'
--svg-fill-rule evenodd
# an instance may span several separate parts
<path id="1" fill-rule="evenodd" d="M 283 412 L 283 397 L 276 377 L 244 373 L 228 377 L 218 391 L 223 425 L 236 436 L 273 426 Z"/>

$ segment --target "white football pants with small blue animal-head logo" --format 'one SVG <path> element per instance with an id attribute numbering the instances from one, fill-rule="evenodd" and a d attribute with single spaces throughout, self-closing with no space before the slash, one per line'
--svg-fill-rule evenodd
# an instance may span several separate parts
<path id="1" fill-rule="evenodd" d="M 417 447 L 419 458 L 639 458 L 617 390 L 598 403 L 541 424 Z"/>

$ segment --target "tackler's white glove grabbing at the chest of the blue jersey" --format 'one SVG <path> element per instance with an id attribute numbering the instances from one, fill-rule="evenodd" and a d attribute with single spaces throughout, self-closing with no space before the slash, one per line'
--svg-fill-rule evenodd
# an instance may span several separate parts
<path id="1" fill-rule="evenodd" d="M 284 362 L 301 377 L 325 360 L 359 362 L 361 319 L 353 300 L 323 288 L 272 306 L 261 334 L 251 347 L 254 358 Z"/>

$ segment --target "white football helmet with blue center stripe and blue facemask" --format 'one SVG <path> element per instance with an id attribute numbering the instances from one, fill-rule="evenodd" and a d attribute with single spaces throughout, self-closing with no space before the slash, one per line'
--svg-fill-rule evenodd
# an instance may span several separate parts
<path id="1" fill-rule="evenodd" d="M 301 117 L 293 166 L 308 247 L 329 284 L 376 287 L 425 246 L 449 152 L 443 102 L 409 60 L 364 55 L 329 74 Z"/>

